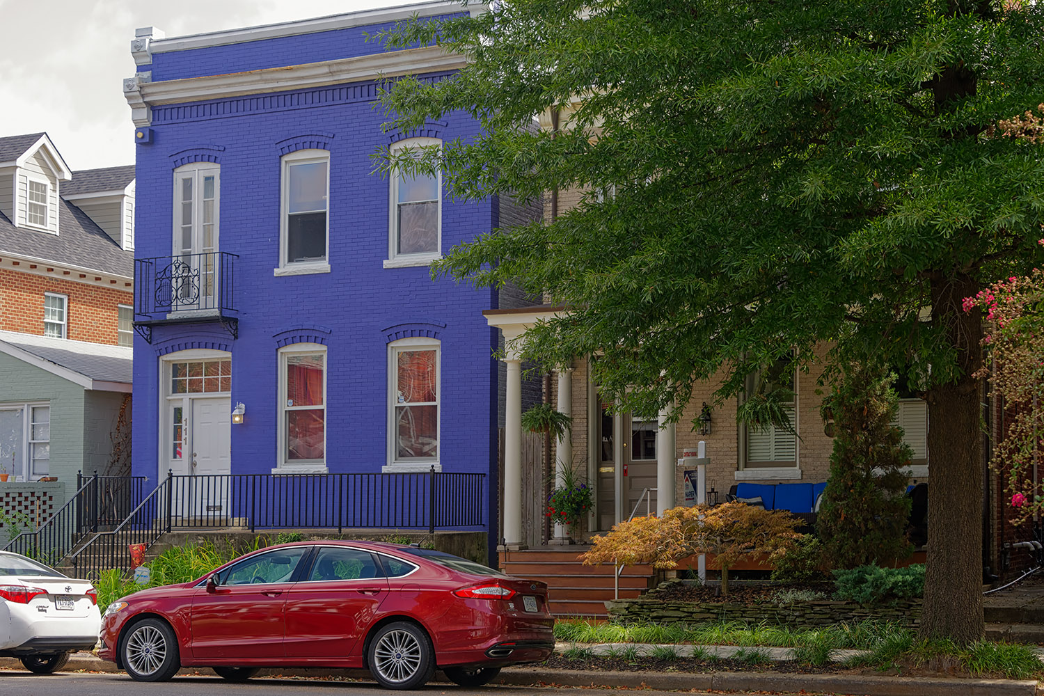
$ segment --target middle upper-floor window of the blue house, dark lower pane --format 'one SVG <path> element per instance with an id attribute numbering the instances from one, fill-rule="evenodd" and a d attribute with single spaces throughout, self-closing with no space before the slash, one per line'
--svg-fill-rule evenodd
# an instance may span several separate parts
<path id="1" fill-rule="evenodd" d="M 298 150 L 283 158 L 280 269 L 329 271 L 330 153 Z"/>

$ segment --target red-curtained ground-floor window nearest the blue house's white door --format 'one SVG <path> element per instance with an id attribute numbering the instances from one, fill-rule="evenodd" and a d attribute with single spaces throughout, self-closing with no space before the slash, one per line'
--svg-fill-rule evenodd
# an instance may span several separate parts
<path id="1" fill-rule="evenodd" d="M 326 464 L 326 346 L 294 343 L 279 352 L 279 466 Z"/>

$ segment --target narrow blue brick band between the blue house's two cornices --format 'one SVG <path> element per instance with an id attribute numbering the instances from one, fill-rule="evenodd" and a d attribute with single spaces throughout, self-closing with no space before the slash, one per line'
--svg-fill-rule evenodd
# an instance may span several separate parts
<path id="1" fill-rule="evenodd" d="M 448 19 L 454 15 L 459 13 L 430 19 Z M 381 42 L 376 39 L 376 34 L 393 26 L 394 22 L 370 24 L 298 37 L 155 53 L 151 65 L 152 80 L 285 68 L 379 53 Z M 370 41 L 366 41 L 367 35 L 372 37 Z M 139 68 L 139 70 L 144 69 L 146 68 Z"/>

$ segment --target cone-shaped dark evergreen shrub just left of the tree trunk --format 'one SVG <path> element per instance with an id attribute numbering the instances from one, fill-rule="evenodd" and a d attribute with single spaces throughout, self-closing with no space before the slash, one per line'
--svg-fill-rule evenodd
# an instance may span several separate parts
<path id="1" fill-rule="evenodd" d="M 836 436 L 815 527 L 833 568 L 893 562 L 912 551 L 903 493 L 914 453 L 891 425 L 899 407 L 894 379 L 880 366 L 849 365 L 823 402 Z"/>

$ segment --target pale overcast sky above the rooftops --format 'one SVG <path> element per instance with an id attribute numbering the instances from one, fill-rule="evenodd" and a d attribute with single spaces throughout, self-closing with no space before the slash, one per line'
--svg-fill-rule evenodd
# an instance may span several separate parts
<path id="1" fill-rule="evenodd" d="M 167 37 L 416 0 L 0 0 L 0 137 L 47 131 L 73 169 L 134 164 L 122 79 L 137 27 Z"/>

